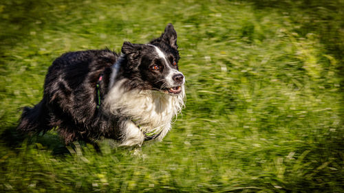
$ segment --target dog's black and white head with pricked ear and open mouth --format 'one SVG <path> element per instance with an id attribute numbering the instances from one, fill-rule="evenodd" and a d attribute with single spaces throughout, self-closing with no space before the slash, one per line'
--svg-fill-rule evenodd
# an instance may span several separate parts
<path id="1" fill-rule="evenodd" d="M 178 95 L 182 92 L 185 78 L 178 71 L 177 33 L 169 23 L 164 33 L 148 44 L 123 43 L 122 54 L 127 63 L 123 73 L 131 87 L 150 89 Z"/>

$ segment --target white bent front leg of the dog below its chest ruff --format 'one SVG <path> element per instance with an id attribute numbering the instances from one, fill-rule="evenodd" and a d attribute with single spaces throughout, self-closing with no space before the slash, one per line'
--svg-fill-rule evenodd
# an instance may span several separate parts
<path id="1" fill-rule="evenodd" d="M 122 140 L 120 146 L 141 146 L 144 141 L 144 135 L 140 128 L 131 120 L 126 120 L 122 124 Z"/>

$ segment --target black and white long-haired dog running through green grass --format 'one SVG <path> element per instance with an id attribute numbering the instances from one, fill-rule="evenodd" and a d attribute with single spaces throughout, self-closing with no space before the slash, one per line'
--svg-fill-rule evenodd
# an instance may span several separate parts
<path id="1" fill-rule="evenodd" d="M 163 139 L 184 106 L 177 33 L 169 24 L 159 38 L 125 42 L 121 51 L 68 52 L 54 60 L 43 100 L 24 107 L 17 129 L 45 133 L 56 128 L 67 144 L 105 137 L 140 146 Z"/>

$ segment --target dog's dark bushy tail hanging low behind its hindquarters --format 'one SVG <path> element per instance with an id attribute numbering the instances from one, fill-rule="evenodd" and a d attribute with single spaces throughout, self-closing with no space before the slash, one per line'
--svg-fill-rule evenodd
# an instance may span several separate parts
<path id="1" fill-rule="evenodd" d="M 17 130 L 24 133 L 40 133 L 49 130 L 48 112 L 45 107 L 45 100 L 41 100 L 34 107 L 25 106 L 19 120 Z"/>

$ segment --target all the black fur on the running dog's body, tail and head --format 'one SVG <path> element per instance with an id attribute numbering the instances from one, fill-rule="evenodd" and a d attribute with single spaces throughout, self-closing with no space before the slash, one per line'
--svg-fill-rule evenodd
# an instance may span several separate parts
<path id="1" fill-rule="evenodd" d="M 178 63 L 177 34 L 173 25 L 150 42 L 160 47 L 169 57 L 169 63 Z M 120 69 L 116 80 L 126 78 L 128 89 L 162 89 L 166 76 L 164 65 L 150 55 L 153 47 L 123 43 Z M 130 119 L 126 115 L 111 114 L 100 105 L 97 109 L 97 89 L 104 100 L 109 91 L 111 67 L 119 54 L 109 49 L 68 52 L 56 58 L 45 77 L 43 99 L 34 107 L 24 107 L 18 130 L 28 133 L 45 133 L 56 128 L 66 144 L 83 139 L 93 142 L 100 137 L 120 140 L 120 123 Z M 158 71 L 149 71 L 151 65 L 159 65 Z M 173 66 L 178 69 L 178 66 Z M 98 81 L 100 75 L 103 80 Z"/>

